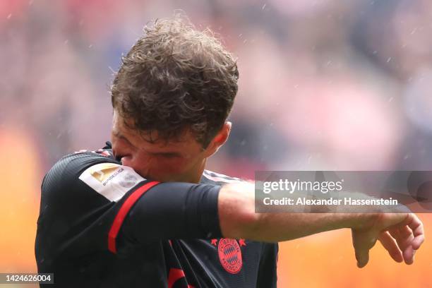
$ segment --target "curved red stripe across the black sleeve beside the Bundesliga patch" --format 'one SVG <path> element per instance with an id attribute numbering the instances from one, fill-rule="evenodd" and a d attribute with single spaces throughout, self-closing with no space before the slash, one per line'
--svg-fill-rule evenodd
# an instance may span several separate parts
<path id="1" fill-rule="evenodd" d="M 116 217 L 114 218 L 114 222 L 112 222 L 112 227 L 109 229 L 108 233 L 108 249 L 112 253 L 116 253 L 116 237 L 117 234 L 119 234 L 119 230 L 121 228 L 121 224 L 124 222 L 124 218 L 126 218 L 126 215 L 128 215 L 129 210 L 131 210 L 133 204 L 136 203 L 136 201 L 145 193 L 147 192 L 152 186 L 155 186 L 156 184 L 159 184 L 157 181 L 149 182 L 140 188 L 136 189 L 136 191 L 133 191 L 131 196 L 129 196 L 126 201 L 124 201 L 123 205 L 121 205 L 121 208 L 119 212 L 117 213 Z"/>

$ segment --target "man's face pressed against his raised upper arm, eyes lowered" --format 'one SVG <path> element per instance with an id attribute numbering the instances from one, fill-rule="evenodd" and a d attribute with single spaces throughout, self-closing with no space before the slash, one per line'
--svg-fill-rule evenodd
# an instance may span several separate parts
<path id="1" fill-rule="evenodd" d="M 157 133 L 154 133 L 157 139 Z M 209 145 L 211 146 L 211 145 Z M 209 148 L 208 148 L 209 149 Z M 203 149 L 191 133 L 177 141 L 157 140 L 150 143 L 138 131 L 128 128 L 114 112 L 112 150 L 121 163 L 141 176 L 156 181 L 200 181 L 205 160 L 212 151 Z"/>

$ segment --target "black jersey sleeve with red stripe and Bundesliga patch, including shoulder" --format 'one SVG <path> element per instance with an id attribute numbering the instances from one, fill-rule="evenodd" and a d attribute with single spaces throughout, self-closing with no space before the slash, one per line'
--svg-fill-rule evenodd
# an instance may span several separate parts
<path id="1" fill-rule="evenodd" d="M 150 181 L 92 152 L 64 157 L 42 182 L 38 265 L 98 251 L 121 256 L 161 239 L 220 236 L 219 189 Z"/>

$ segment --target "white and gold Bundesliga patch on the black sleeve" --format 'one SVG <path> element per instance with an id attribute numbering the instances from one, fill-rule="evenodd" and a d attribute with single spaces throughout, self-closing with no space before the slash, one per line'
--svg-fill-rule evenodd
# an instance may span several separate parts
<path id="1" fill-rule="evenodd" d="M 145 179 L 131 167 L 114 164 L 95 164 L 79 176 L 93 190 L 111 201 L 118 201 L 133 186 Z"/>

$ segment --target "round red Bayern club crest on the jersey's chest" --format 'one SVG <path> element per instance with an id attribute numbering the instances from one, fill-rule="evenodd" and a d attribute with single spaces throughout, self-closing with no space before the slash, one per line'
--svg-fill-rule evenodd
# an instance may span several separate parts
<path id="1" fill-rule="evenodd" d="M 235 239 L 220 239 L 217 250 L 220 263 L 227 272 L 232 274 L 240 272 L 243 260 L 241 260 L 240 246 Z"/>

